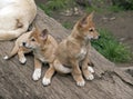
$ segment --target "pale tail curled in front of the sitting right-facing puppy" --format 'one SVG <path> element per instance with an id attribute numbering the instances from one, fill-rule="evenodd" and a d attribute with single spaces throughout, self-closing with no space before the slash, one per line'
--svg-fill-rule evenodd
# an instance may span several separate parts
<path id="1" fill-rule="evenodd" d="M 72 71 L 72 69 L 62 66 L 59 60 L 55 60 L 55 61 L 54 61 L 54 69 L 55 69 L 58 72 L 61 72 L 61 73 L 71 73 L 71 71 Z"/>

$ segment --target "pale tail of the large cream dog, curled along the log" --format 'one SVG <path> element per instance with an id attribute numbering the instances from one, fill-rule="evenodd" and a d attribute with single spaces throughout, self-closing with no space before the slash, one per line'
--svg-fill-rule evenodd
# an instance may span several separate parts
<path id="1" fill-rule="evenodd" d="M 28 30 L 28 23 L 17 27 L 14 30 L 0 30 L 0 40 L 12 40 Z"/>

